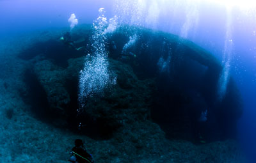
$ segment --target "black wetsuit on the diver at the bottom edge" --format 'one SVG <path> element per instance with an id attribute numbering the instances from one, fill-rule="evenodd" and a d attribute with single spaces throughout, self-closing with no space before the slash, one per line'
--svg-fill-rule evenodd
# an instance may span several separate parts
<path id="1" fill-rule="evenodd" d="M 87 153 L 84 148 L 77 148 L 75 146 L 72 148 L 72 154 L 76 156 L 76 161 L 78 163 L 93 163 L 92 155 Z"/>

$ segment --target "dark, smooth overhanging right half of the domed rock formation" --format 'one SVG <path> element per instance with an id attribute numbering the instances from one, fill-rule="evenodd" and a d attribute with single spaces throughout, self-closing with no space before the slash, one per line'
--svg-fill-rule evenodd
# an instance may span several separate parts
<path id="1" fill-rule="evenodd" d="M 110 48 L 111 57 L 120 58 L 120 47 L 125 47 L 134 33 L 138 35 L 136 43 L 126 51 L 136 58 L 128 62 L 140 79 L 156 77 L 151 117 L 167 137 L 216 141 L 236 136 L 243 105 L 232 78 L 227 95 L 219 100 L 220 61 L 189 40 L 132 27 L 120 27 L 111 36 L 116 45 L 116 49 Z M 205 110 L 207 121 L 202 123 L 198 119 Z"/>

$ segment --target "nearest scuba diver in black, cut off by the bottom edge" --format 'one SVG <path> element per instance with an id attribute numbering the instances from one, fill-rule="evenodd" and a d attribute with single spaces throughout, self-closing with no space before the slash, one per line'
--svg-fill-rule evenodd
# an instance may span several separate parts
<path id="1" fill-rule="evenodd" d="M 83 141 L 81 139 L 76 139 L 75 146 L 70 151 L 71 157 L 68 161 L 74 163 L 93 163 L 92 155 L 87 153 L 84 148 Z"/>

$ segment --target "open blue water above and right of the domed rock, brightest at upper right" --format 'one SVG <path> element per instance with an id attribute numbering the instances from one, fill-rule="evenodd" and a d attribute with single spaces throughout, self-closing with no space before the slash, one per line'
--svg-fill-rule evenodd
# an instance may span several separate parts
<path id="1" fill-rule="evenodd" d="M 227 1 L 228 2 L 228 1 Z M 247 1 L 246 1 L 247 2 Z M 238 124 L 239 143 L 247 157 L 256 161 L 256 4 L 196 0 L 1 0 L 0 40 L 4 38 L 69 27 L 76 14 L 79 24 L 92 24 L 99 8 L 118 24 L 142 26 L 182 36 L 200 45 L 222 61 L 220 98 L 232 76 L 241 92 L 244 113 Z M 100 38 L 102 39 L 102 38 Z"/>

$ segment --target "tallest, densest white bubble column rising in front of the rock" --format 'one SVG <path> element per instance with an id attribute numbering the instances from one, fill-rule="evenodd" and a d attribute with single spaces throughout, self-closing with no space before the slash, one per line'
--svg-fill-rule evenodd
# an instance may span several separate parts
<path id="1" fill-rule="evenodd" d="M 80 109 L 86 104 L 86 98 L 94 95 L 104 96 L 104 90 L 116 84 L 116 75 L 109 70 L 108 50 L 106 50 L 106 29 L 109 24 L 104 16 L 104 8 L 99 9 L 99 17 L 93 22 L 93 54 L 85 58 L 84 68 L 79 75 Z"/>

